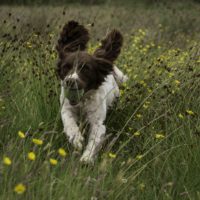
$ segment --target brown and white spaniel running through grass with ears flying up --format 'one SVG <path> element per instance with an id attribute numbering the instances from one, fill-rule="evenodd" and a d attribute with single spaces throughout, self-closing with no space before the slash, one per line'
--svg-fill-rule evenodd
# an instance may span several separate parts
<path id="1" fill-rule="evenodd" d="M 94 163 L 105 140 L 107 110 L 119 97 L 119 85 L 127 76 L 114 65 L 123 43 L 118 30 L 108 33 L 93 54 L 86 51 L 88 41 L 89 33 L 83 25 L 76 21 L 65 24 L 56 46 L 59 57 L 56 70 L 61 79 L 64 133 L 76 149 L 82 150 L 84 137 L 78 126 L 81 109 L 90 128 L 80 161 Z"/>

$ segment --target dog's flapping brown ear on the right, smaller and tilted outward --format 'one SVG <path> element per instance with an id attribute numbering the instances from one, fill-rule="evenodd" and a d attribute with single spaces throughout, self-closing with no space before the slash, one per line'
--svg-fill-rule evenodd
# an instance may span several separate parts
<path id="1" fill-rule="evenodd" d="M 96 49 L 94 55 L 113 62 L 120 54 L 122 43 L 122 34 L 114 29 L 101 41 L 101 46 Z"/>

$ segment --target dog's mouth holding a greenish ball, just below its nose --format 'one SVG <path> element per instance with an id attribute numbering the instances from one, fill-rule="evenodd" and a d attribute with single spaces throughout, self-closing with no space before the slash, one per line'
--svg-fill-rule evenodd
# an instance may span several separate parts
<path id="1" fill-rule="evenodd" d="M 66 88 L 65 96 L 71 105 L 77 105 L 84 95 L 84 89 Z"/>

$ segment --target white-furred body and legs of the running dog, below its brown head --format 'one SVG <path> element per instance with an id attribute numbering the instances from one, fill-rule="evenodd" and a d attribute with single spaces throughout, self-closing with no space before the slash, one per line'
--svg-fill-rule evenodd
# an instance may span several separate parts
<path id="1" fill-rule="evenodd" d="M 106 134 L 104 121 L 107 109 L 112 106 L 114 100 L 119 97 L 119 83 L 127 80 L 116 66 L 113 74 L 108 75 L 105 81 L 97 90 L 90 90 L 78 105 L 72 106 L 64 95 L 64 87 L 61 84 L 61 118 L 64 125 L 64 132 L 69 138 L 69 142 L 76 149 L 82 150 L 83 136 L 77 125 L 77 110 L 82 109 L 86 114 L 86 119 L 90 125 L 88 144 L 81 156 L 81 161 L 91 163 L 94 161 Z M 118 84 L 117 84 L 118 83 Z"/>

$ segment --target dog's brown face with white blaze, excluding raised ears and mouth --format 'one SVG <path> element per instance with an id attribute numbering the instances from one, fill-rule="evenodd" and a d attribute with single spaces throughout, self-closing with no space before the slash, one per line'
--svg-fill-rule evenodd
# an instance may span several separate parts
<path id="1" fill-rule="evenodd" d="M 66 54 L 57 65 L 57 74 L 64 86 L 72 90 L 97 89 L 112 70 L 111 62 L 84 51 Z"/>

